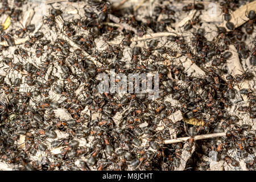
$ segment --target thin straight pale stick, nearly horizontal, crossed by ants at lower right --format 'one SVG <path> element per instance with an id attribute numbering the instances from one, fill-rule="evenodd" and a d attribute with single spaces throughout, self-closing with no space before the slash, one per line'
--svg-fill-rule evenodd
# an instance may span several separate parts
<path id="1" fill-rule="evenodd" d="M 214 134 L 206 134 L 206 135 L 196 135 L 194 137 L 194 140 L 202 140 L 207 138 L 214 138 L 214 137 L 225 137 L 226 133 L 214 133 Z M 175 138 L 175 139 L 168 139 L 164 140 L 164 144 L 171 144 L 171 143 L 179 143 L 179 142 L 186 142 L 191 137 L 181 137 L 181 138 Z"/>

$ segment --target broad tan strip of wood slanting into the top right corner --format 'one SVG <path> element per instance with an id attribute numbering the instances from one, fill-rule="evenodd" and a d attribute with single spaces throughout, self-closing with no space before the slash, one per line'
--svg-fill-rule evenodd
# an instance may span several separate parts
<path id="1" fill-rule="evenodd" d="M 240 7 L 240 9 L 237 9 L 232 13 L 232 18 L 230 22 L 234 23 L 234 28 L 240 27 L 243 23 L 249 20 L 246 15 L 248 16 L 249 11 L 251 10 L 256 11 L 256 1 L 250 2 L 249 4 L 242 6 Z M 224 20 L 224 22 L 222 22 L 220 26 L 226 28 L 226 21 Z M 226 28 L 226 30 L 232 31 L 228 28 Z"/>

